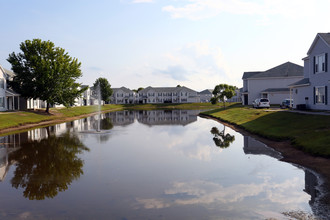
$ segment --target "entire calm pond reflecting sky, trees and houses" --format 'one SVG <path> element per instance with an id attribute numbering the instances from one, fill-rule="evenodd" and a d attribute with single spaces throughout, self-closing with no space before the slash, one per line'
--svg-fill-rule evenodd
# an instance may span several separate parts
<path id="1" fill-rule="evenodd" d="M 326 219 L 312 172 L 197 114 L 112 112 L 0 137 L 0 219 Z"/>

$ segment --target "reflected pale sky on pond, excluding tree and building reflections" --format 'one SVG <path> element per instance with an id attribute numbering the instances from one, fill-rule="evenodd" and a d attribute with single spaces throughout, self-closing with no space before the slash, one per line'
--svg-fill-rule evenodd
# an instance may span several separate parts
<path id="1" fill-rule="evenodd" d="M 80 133 L 90 149 L 82 156 L 81 178 L 54 199 L 36 203 L 15 199 L 9 173 L 0 185 L 7 198 L 0 199 L 0 213 L 24 214 L 15 212 L 17 205 L 34 217 L 75 219 L 266 219 L 310 211 L 301 169 L 244 154 L 243 137 L 227 127 L 235 141 L 220 149 L 212 127 L 224 128 L 198 118 L 186 126 L 114 126 L 102 142 Z"/>

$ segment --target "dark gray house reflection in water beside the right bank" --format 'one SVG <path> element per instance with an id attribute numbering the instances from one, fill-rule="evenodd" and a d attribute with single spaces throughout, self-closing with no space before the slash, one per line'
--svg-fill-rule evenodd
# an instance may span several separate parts
<path id="1" fill-rule="evenodd" d="M 266 144 L 257 141 L 256 139 L 244 136 L 244 147 L 245 154 L 254 154 L 254 155 L 268 155 L 276 159 L 281 159 L 282 155 L 280 152 L 275 151 L 273 148 L 268 147 Z"/>

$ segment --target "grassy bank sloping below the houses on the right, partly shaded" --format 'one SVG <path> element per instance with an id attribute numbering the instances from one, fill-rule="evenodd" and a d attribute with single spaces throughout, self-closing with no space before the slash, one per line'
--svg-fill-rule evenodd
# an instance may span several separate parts
<path id="1" fill-rule="evenodd" d="M 204 112 L 245 130 L 292 144 L 313 155 L 330 157 L 330 116 L 267 111 L 234 105 Z"/>

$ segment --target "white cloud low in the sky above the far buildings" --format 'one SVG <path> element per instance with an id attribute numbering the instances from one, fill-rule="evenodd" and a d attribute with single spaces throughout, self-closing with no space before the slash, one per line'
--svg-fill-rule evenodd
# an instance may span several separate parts
<path id="1" fill-rule="evenodd" d="M 241 73 L 236 76 L 231 71 L 221 49 L 211 47 L 208 41 L 187 43 L 168 51 L 153 60 L 148 68 L 152 68 L 153 76 L 163 75 L 167 77 L 166 82 L 177 82 L 195 90 L 214 88 L 219 83 L 231 84 L 241 77 Z"/>

